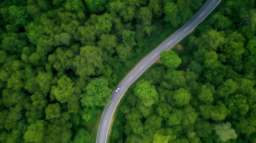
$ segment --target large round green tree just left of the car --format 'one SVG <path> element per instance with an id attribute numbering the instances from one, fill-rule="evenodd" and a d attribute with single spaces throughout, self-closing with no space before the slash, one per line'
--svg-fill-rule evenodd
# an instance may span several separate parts
<path id="1" fill-rule="evenodd" d="M 108 81 L 104 78 L 93 78 L 80 95 L 82 106 L 104 107 L 110 103 L 112 90 L 108 87 Z"/>

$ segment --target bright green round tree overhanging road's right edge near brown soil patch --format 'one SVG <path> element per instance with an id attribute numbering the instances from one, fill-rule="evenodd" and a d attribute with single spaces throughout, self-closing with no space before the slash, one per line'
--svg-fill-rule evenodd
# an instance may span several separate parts
<path id="1" fill-rule="evenodd" d="M 181 64 L 181 59 L 178 56 L 178 54 L 174 51 L 162 51 L 161 52 L 160 60 L 166 66 L 170 69 L 177 69 L 178 66 Z"/>

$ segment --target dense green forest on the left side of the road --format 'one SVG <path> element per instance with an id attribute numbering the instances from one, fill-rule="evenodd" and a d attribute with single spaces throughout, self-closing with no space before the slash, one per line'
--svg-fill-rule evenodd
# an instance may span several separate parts
<path id="1" fill-rule="evenodd" d="M 159 35 L 170 35 L 201 5 L 1 0 L 0 142 L 95 142 L 90 125 L 110 103 L 111 89 L 166 38 Z M 143 103 L 150 106 L 156 96 Z"/>

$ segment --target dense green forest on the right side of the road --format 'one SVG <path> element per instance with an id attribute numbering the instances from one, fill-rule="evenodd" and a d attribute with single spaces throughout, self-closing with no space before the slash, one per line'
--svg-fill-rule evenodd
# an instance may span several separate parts
<path id="1" fill-rule="evenodd" d="M 179 11 L 178 2 L 164 11 Z M 183 51 L 163 51 L 131 86 L 109 142 L 255 143 L 255 32 L 255 0 L 222 0 Z"/>

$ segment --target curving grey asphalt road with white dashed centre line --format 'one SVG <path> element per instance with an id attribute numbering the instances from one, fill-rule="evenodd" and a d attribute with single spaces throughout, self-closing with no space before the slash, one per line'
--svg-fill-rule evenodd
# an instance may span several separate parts
<path id="1" fill-rule="evenodd" d="M 220 0 L 208 0 L 204 6 L 196 13 L 191 20 L 184 24 L 179 30 L 171 35 L 167 40 L 160 44 L 153 52 L 144 58 L 118 85 L 119 92 L 114 92 L 111 96 L 111 103 L 105 108 L 99 130 L 97 134 L 97 143 L 106 143 L 108 137 L 108 129 L 110 121 L 114 114 L 115 108 L 119 103 L 121 97 L 124 95 L 128 87 L 159 57 L 161 51 L 167 51 L 173 47 L 177 42 L 182 40 L 188 33 L 190 33 L 204 18 L 211 13 L 211 11 L 218 5 Z"/>

